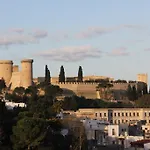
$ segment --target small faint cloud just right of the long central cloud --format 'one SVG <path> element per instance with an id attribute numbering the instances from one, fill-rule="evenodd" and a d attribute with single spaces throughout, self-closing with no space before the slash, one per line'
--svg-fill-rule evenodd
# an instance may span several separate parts
<path id="1" fill-rule="evenodd" d="M 112 50 L 110 53 L 107 53 L 108 56 L 128 56 L 129 52 L 125 47 L 120 47 L 118 49 Z"/>

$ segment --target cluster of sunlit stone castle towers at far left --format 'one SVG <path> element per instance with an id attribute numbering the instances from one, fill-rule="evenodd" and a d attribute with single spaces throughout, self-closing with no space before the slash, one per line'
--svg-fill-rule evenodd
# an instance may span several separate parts
<path id="1" fill-rule="evenodd" d="M 18 65 L 13 65 L 12 60 L 0 60 L 0 78 L 5 80 L 6 86 L 10 89 L 16 87 L 27 88 L 33 83 L 33 59 L 21 61 L 21 70 Z"/>

